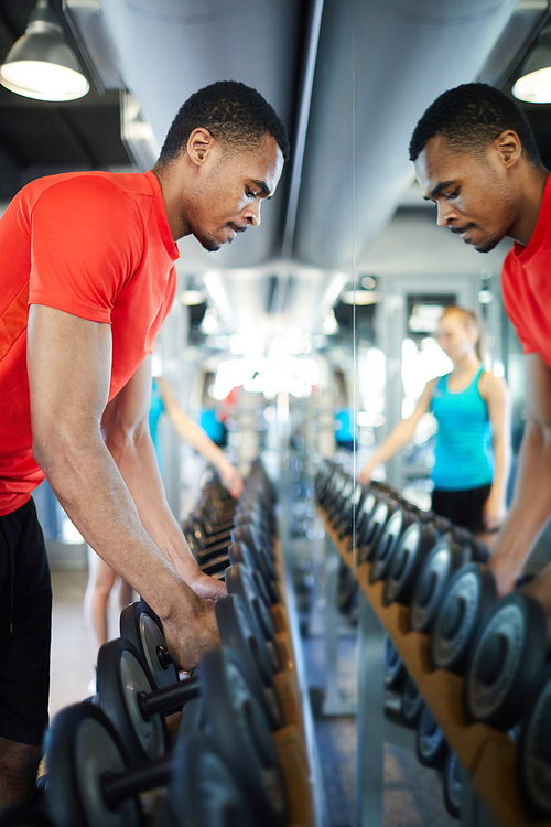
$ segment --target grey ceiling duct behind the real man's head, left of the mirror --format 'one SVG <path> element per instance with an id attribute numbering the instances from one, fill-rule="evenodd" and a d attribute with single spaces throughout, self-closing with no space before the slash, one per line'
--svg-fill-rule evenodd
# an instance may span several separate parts
<path id="1" fill-rule="evenodd" d="M 215 80 L 257 88 L 292 132 L 301 2 L 102 0 L 102 7 L 126 85 L 159 144 L 184 100 Z M 206 266 L 256 266 L 277 257 L 284 210 L 281 196 L 264 205 L 262 226 L 219 250 L 216 260 L 205 254 Z"/>

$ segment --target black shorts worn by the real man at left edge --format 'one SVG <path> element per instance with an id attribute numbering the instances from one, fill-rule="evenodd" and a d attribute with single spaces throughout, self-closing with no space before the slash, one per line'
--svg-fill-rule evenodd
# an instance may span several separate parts
<path id="1" fill-rule="evenodd" d="M 0 517 L 0 735 L 41 745 L 47 726 L 52 588 L 34 502 Z"/>

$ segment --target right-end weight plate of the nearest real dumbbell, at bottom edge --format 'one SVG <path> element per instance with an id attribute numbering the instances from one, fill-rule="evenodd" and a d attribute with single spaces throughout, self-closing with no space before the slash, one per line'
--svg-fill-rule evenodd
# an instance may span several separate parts
<path id="1" fill-rule="evenodd" d="M 177 827 L 257 827 L 242 788 L 209 733 L 179 738 L 174 778 L 168 799 Z M 165 821 L 161 824 L 165 827 Z"/>

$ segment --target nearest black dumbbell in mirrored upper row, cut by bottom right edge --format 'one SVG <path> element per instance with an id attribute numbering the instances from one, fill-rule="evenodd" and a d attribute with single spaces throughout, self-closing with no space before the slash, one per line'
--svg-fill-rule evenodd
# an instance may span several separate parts
<path id="1" fill-rule="evenodd" d="M 534 819 L 551 818 L 551 668 L 539 695 L 523 712 L 516 751 L 516 775 Z"/>

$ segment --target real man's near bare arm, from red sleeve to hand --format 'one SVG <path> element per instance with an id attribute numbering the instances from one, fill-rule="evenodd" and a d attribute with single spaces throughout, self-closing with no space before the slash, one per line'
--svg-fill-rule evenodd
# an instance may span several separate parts
<path id="1" fill-rule="evenodd" d="M 158 612 L 179 663 L 190 667 L 219 643 L 213 604 L 195 595 L 155 546 L 104 443 L 110 363 L 109 325 L 30 308 L 34 457 L 80 534 Z"/>

